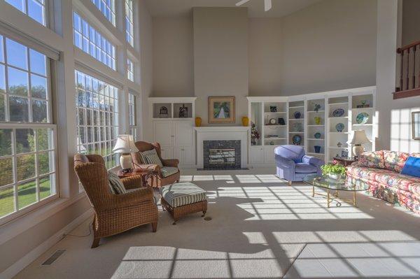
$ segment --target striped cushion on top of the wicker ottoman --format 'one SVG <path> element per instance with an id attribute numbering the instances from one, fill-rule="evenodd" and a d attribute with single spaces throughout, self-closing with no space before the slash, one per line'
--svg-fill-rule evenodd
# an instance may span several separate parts
<path id="1" fill-rule="evenodd" d="M 207 199 L 206 191 L 193 183 L 174 183 L 160 188 L 163 199 L 173 208 Z"/>

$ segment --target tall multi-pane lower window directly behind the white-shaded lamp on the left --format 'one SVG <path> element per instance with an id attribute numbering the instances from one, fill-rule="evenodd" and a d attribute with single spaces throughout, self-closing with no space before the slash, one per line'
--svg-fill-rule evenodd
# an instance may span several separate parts
<path id="1" fill-rule="evenodd" d="M 80 71 L 76 74 L 78 152 L 100 154 L 107 169 L 117 166 L 118 89 Z"/>

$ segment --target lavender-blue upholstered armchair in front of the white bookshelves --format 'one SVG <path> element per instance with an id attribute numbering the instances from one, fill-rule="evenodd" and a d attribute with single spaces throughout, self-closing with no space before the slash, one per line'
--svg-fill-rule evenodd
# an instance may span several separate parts
<path id="1" fill-rule="evenodd" d="M 323 160 L 307 156 L 304 148 L 299 145 L 280 145 L 274 149 L 276 173 L 279 178 L 292 181 L 302 181 L 308 174 L 321 174 Z"/>

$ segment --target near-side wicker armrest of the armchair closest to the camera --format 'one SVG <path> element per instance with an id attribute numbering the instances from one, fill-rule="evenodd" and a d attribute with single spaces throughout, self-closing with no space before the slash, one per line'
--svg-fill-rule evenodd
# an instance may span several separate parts
<path id="1" fill-rule="evenodd" d="M 133 192 L 127 192 L 125 194 L 113 194 L 112 199 L 113 202 L 111 206 L 106 208 L 107 210 L 137 206 L 139 203 L 146 201 L 154 202 L 153 189 L 141 187 Z"/>

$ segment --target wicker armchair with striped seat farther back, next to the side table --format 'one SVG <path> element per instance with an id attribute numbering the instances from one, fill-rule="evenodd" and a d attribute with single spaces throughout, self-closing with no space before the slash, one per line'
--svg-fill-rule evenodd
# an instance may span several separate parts
<path id="1" fill-rule="evenodd" d="M 162 159 L 161 152 L 160 152 L 160 144 L 159 143 L 146 143 L 145 141 L 137 141 L 135 143 L 139 152 L 144 152 L 147 150 L 152 150 L 153 148 L 158 152 L 160 161 L 162 161 L 162 165 L 165 166 L 172 166 L 178 167 L 179 159 Z M 147 183 L 151 187 L 162 187 L 172 183 L 178 183 L 181 173 L 178 172 L 172 174 L 172 176 L 163 176 L 162 170 L 160 166 L 155 164 L 146 164 L 146 162 L 141 161 L 141 157 L 138 152 L 132 153 L 132 160 L 133 160 L 133 167 L 134 169 L 143 169 L 144 171 L 153 171 L 151 176 L 148 176 Z"/>

